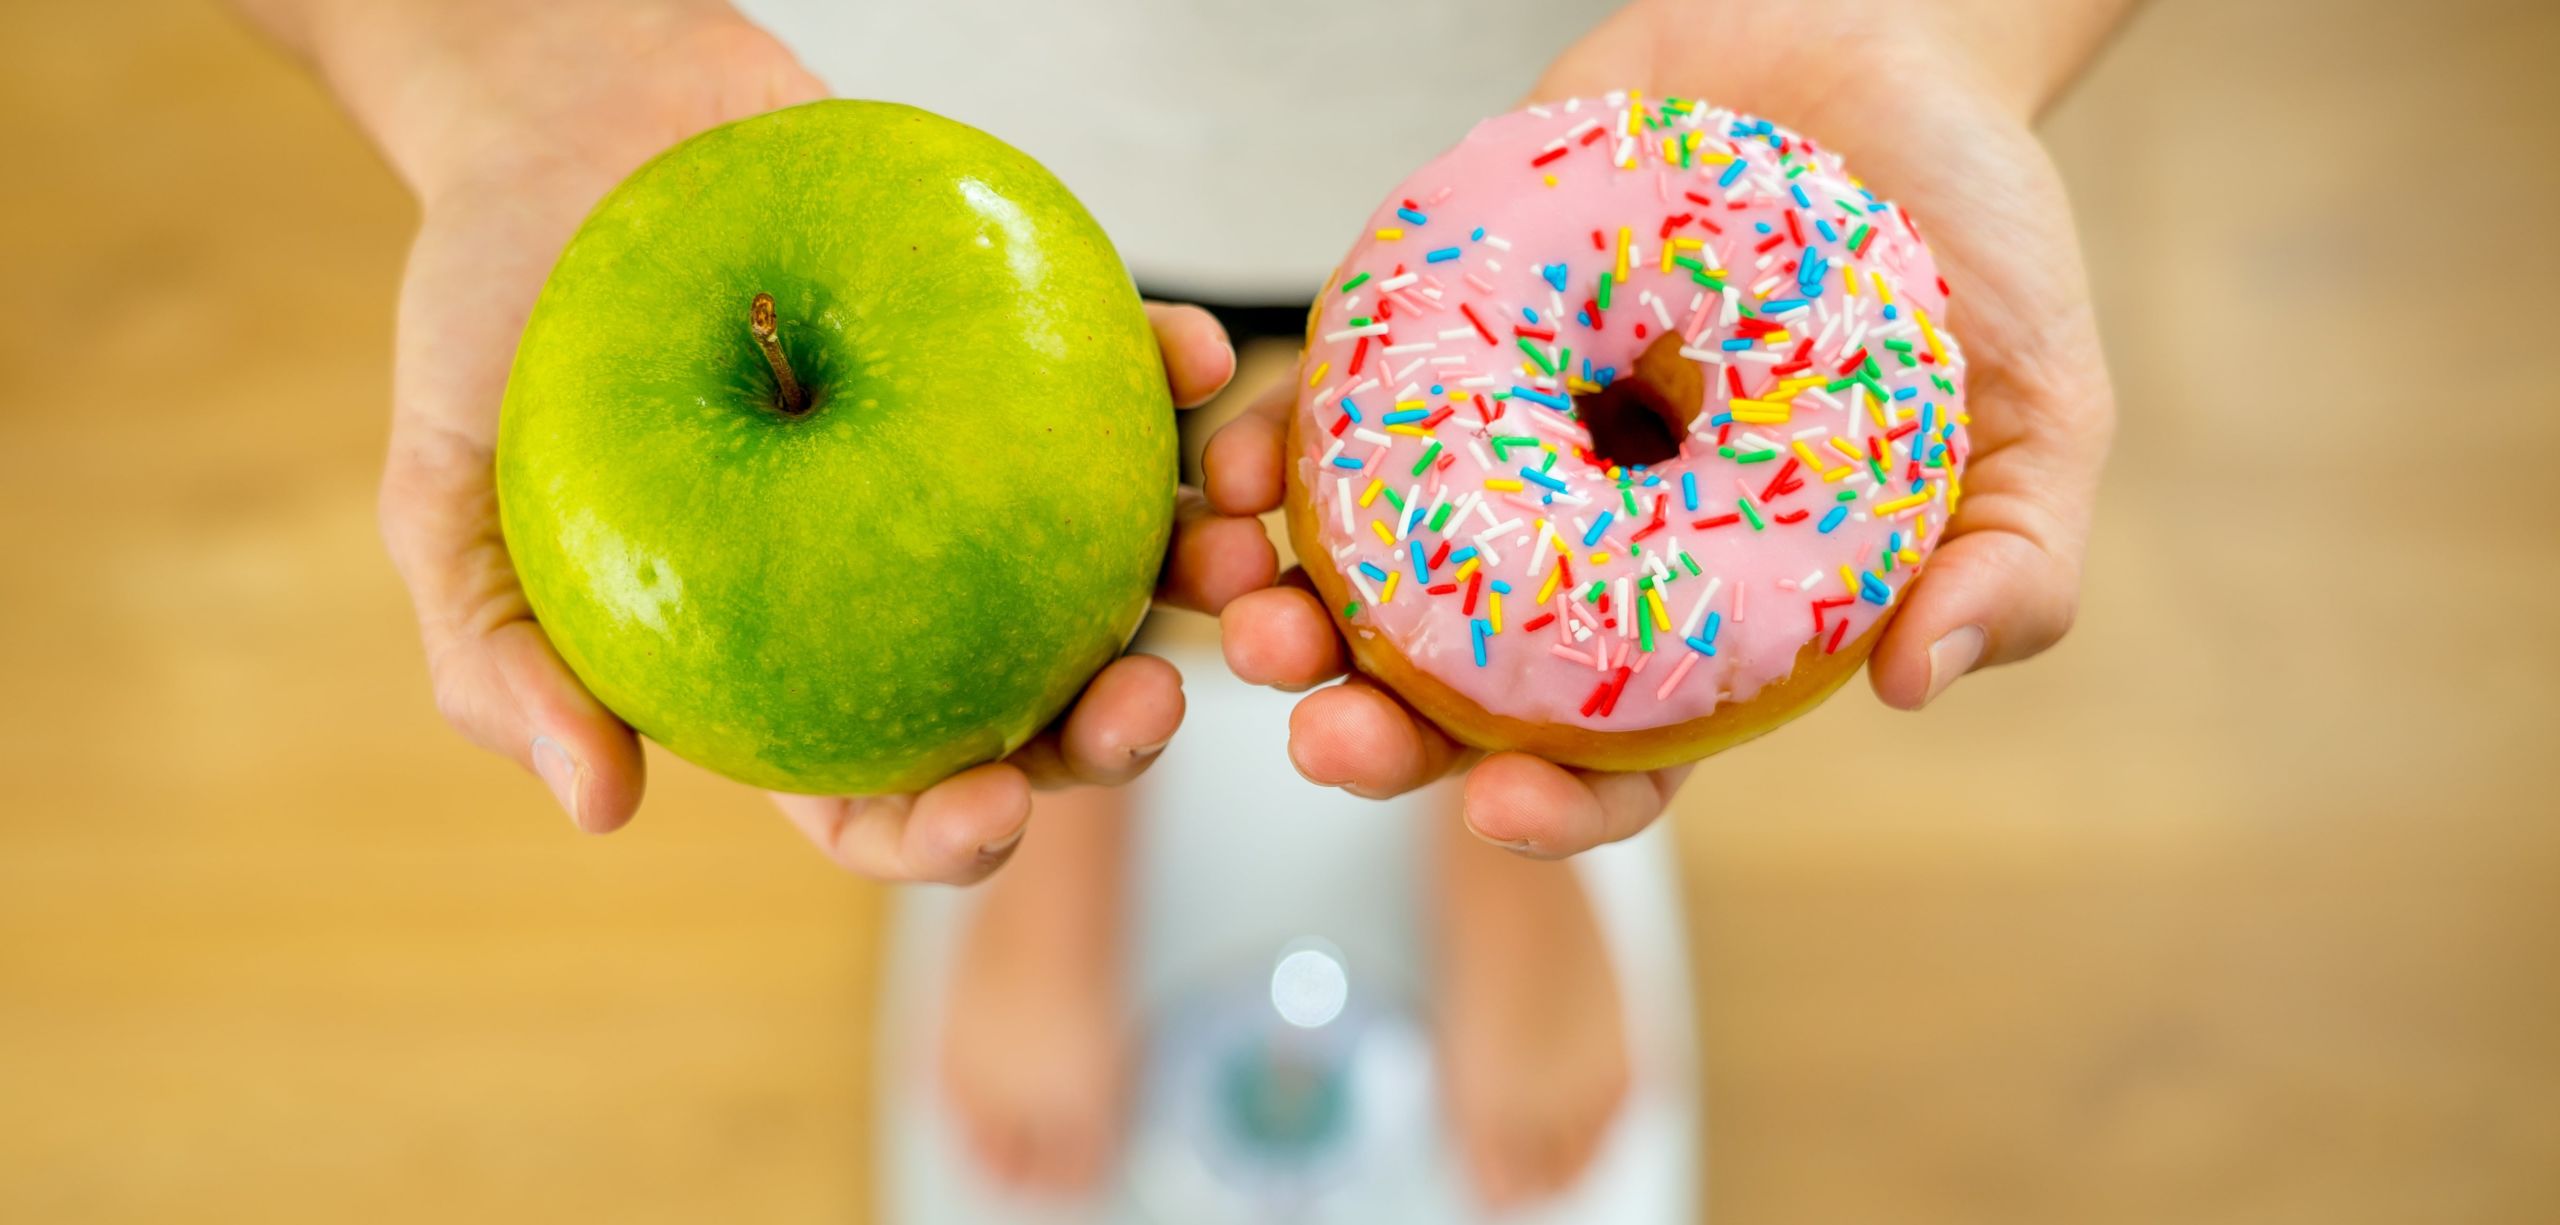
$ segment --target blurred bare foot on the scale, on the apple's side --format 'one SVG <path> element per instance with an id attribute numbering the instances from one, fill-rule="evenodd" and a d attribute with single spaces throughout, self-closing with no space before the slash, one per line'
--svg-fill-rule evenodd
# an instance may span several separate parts
<path id="1" fill-rule="evenodd" d="M 1121 803 L 1103 788 L 1042 793 L 952 964 L 942 1087 L 970 1151 L 1014 1189 L 1091 1192 L 1119 1153 Z"/>

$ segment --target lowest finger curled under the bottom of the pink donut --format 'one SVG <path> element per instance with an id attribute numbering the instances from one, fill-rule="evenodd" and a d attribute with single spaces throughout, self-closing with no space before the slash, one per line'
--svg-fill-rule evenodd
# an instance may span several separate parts
<path id="1" fill-rule="evenodd" d="M 1638 834 L 1672 803 L 1687 765 L 1636 775 L 1567 770 L 1526 752 L 1498 752 L 1467 772 L 1464 813 L 1475 836 L 1539 859 L 1562 859 Z"/>

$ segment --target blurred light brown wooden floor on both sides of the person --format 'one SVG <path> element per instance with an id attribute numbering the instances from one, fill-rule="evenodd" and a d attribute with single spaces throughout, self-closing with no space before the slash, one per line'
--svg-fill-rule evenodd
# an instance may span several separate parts
<path id="1" fill-rule="evenodd" d="M 2163 0 L 2053 120 L 2086 616 L 1682 795 L 1720 1222 L 2560 1220 L 2555 64 Z M 881 895 L 430 711 L 392 179 L 202 0 L 13 5 L 0 151 L 0 1220 L 860 1220 Z"/>

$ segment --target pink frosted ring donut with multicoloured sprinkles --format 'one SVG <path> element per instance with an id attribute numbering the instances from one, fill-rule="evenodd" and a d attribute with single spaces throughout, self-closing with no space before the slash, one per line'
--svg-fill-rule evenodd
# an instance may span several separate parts
<path id="1" fill-rule="evenodd" d="M 1695 100 L 1500 115 L 1308 320 L 1288 522 L 1359 667 L 1467 744 L 1649 770 L 1859 670 L 1964 491 L 1910 217 Z"/>

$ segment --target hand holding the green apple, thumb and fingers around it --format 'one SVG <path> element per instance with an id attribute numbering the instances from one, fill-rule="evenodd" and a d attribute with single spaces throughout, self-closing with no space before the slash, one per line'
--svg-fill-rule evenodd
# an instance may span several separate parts
<path id="1" fill-rule="evenodd" d="M 553 652 L 507 563 L 492 453 L 515 340 L 561 246 L 640 161 L 717 123 L 824 95 L 788 51 L 719 5 L 617 5 L 576 20 L 535 5 L 489 43 L 474 41 L 484 20 L 440 43 L 448 61 L 415 72 L 428 90 L 376 95 L 387 100 L 369 115 L 425 210 L 399 294 L 384 542 L 417 604 L 438 708 L 474 744 L 540 775 L 591 834 L 632 818 L 643 757 L 632 729 Z M 620 72 L 589 77 L 561 64 Z M 415 102 L 438 90 L 458 102 Z M 1196 404 L 1216 394 L 1234 371 L 1219 325 L 1196 307 L 1149 304 L 1149 317 L 1172 396 Z M 1257 527 L 1221 522 L 1185 491 L 1162 601 L 1216 611 L 1270 573 Z M 978 880 L 1019 839 L 1034 785 L 1124 783 L 1180 716 L 1175 670 L 1132 655 L 1006 762 L 919 795 L 776 803 L 855 872 Z"/>

